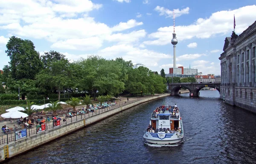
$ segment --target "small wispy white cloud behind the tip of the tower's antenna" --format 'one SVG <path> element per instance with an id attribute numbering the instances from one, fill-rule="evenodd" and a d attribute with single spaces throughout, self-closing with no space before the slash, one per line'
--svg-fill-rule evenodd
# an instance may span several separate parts
<path id="1" fill-rule="evenodd" d="M 157 6 L 155 11 L 160 12 L 159 15 L 165 15 L 166 17 L 173 17 L 173 11 L 166 9 L 164 7 Z M 175 17 L 179 17 L 183 14 L 189 14 L 189 7 L 186 7 L 185 9 L 174 9 Z"/>

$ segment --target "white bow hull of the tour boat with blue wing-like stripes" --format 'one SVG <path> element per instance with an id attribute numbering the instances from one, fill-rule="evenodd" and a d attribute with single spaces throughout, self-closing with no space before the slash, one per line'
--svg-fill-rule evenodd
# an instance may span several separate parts
<path id="1" fill-rule="evenodd" d="M 182 141 L 183 134 L 145 132 L 143 138 L 145 138 L 145 141 L 151 144 L 176 144 Z"/>

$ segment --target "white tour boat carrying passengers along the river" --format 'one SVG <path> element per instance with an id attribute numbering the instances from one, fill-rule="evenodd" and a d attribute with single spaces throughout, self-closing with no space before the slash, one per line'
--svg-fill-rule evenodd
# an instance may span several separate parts
<path id="1" fill-rule="evenodd" d="M 163 106 L 161 113 L 151 114 L 148 125 L 150 129 L 147 128 L 143 135 L 145 141 L 151 144 L 175 144 L 182 141 L 184 131 L 180 111 L 178 109 L 178 114 L 173 115 L 171 113 L 174 112 L 174 108 L 174 106 Z M 172 132 L 173 129 L 177 131 Z"/>

